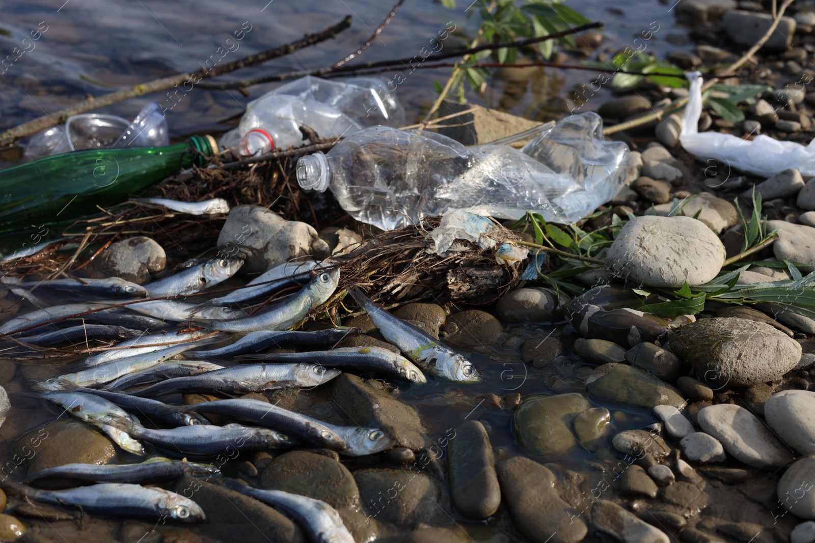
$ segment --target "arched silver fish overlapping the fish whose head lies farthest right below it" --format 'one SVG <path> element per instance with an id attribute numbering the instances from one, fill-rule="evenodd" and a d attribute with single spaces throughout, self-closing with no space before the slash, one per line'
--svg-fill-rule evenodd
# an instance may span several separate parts
<path id="1" fill-rule="evenodd" d="M 223 414 L 245 423 L 259 424 L 289 432 L 318 447 L 345 449 L 346 443 L 329 430 L 323 423 L 302 414 L 289 411 L 279 405 L 250 398 L 204 401 L 200 404 L 185 405 L 184 409 L 200 413 Z"/>

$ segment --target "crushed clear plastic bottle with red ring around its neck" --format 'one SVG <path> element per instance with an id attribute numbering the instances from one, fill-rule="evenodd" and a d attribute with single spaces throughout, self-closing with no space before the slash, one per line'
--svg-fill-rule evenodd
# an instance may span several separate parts
<path id="1" fill-rule="evenodd" d="M 220 144 L 237 147 L 240 155 L 262 155 L 302 145 L 302 125 L 320 138 L 339 138 L 366 126 L 403 126 L 404 109 L 374 77 L 329 81 L 306 76 L 250 102 L 238 128 L 224 134 Z"/>

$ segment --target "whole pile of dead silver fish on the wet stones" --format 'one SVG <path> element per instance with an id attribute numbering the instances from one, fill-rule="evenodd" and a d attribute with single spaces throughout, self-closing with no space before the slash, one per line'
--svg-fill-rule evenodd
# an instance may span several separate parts
<path id="1" fill-rule="evenodd" d="M 237 259 L 214 259 L 188 265 L 143 286 L 121 278 L 46 282 L 3 278 L 5 287 L 45 308 L 5 322 L 0 326 L 3 339 L 39 348 L 77 340 L 118 341 L 73 363 L 62 374 L 33 383 L 32 388 L 70 416 L 104 431 L 122 450 L 145 460 L 104 466 L 69 464 L 29 474 L 27 479 L 29 483 L 55 477 L 93 483 L 88 486 L 63 490 L 14 483 L 2 486 L 34 501 L 81 506 L 90 513 L 202 521 L 204 512 L 191 499 L 142 484 L 183 475 L 218 475 L 216 466 L 187 462 L 187 458 L 227 450 L 302 444 L 356 457 L 390 449 L 394 440 L 377 428 L 326 423 L 248 398 L 171 405 L 157 397 L 178 393 L 240 396 L 277 388 L 314 388 L 342 370 L 412 383 L 426 383 L 424 372 L 454 381 L 481 380 L 478 370 L 460 354 L 385 312 L 354 288 L 350 295 L 404 356 L 385 348 L 333 348 L 346 336 L 361 333 L 358 328 L 293 330 L 337 290 L 339 269 L 326 263 L 299 261 L 275 266 L 244 287 L 193 303 L 196 298 L 192 295 L 231 278 L 241 265 L 243 261 Z M 295 291 L 249 312 L 285 289 Z M 36 296 L 51 292 L 95 301 L 46 307 Z M 215 343 L 226 342 L 213 348 Z M 305 352 L 264 353 L 281 345 Z M 217 426 L 202 414 L 226 415 L 241 423 Z M 149 419 L 149 425 L 139 418 Z M 280 509 L 302 523 L 317 541 L 353 541 L 337 511 L 323 501 L 252 488 L 226 478 L 222 484 Z"/>

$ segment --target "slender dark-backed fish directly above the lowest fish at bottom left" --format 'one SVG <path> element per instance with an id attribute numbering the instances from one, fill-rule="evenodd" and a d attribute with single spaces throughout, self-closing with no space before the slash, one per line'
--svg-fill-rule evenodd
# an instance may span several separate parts
<path id="1" fill-rule="evenodd" d="M 148 458 L 138 464 L 64 464 L 29 475 L 27 480 L 56 477 L 93 483 L 158 483 L 180 479 L 184 475 L 204 477 L 220 474 L 214 464 L 198 464 L 187 460 Z"/>

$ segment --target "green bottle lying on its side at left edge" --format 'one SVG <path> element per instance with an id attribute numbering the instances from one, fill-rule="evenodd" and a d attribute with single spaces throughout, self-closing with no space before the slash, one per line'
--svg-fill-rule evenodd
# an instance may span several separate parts
<path id="1" fill-rule="evenodd" d="M 168 147 L 74 151 L 0 170 L 0 231 L 84 217 L 218 152 L 212 136 Z"/>

